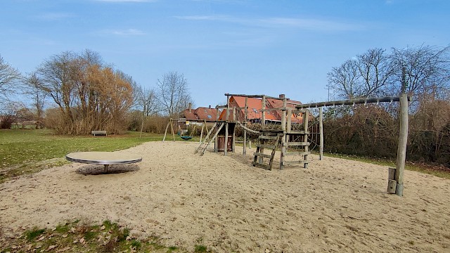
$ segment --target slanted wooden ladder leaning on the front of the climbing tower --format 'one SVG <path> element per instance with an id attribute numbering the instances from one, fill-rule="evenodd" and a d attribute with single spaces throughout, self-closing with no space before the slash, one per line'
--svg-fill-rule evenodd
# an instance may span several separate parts
<path id="1" fill-rule="evenodd" d="M 280 134 L 278 132 L 262 132 L 259 136 L 259 143 L 257 144 L 256 152 L 253 153 L 255 157 L 253 158 L 253 166 L 260 167 L 263 169 L 272 170 L 272 164 L 274 163 L 275 150 L 278 146 L 278 141 L 280 140 Z M 264 154 L 264 148 L 269 148 L 272 150 L 271 155 Z M 264 164 L 264 158 L 270 158 L 269 164 Z"/>

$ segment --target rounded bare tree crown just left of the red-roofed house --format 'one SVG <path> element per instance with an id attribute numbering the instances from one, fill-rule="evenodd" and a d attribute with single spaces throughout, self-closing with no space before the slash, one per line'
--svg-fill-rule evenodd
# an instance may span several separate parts
<path id="1" fill-rule="evenodd" d="M 176 117 L 182 110 L 192 103 L 188 89 L 188 80 L 184 74 L 169 72 L 164 74 L 162 79 L 158 79 L 158 99 L 162 105 L 162 110 L 169 117 Z"/>

